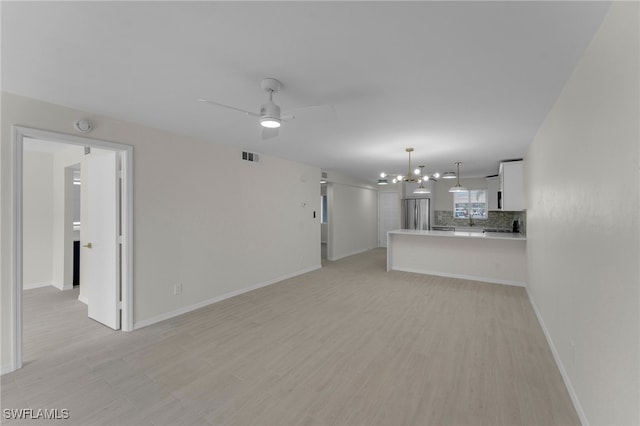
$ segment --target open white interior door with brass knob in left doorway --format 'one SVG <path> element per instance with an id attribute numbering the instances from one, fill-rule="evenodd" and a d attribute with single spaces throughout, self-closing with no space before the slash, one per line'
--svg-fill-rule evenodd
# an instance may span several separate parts
<path id="1" fill-rule="evenodd" d="M 91 154 L 86 162 L 87 236 L 82 236 L 86 257 L 89 318 L 120 329 L 119 185 L 117 154 Z"/>

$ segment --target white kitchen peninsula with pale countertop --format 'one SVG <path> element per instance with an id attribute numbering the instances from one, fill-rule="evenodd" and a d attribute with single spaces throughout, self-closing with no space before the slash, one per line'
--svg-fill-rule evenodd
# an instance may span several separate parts
<path id="1" fill-rule="evenodd" d="M 522 234 L 401 229 L 387 237 L 387 271 L 526 285 Z"/>

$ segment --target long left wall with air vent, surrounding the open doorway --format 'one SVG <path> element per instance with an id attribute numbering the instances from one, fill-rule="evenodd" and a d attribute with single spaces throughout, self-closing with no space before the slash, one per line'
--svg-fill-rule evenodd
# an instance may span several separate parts
<path id="1" fill-rule="evenodd" d="M 234 147 L 2 92 L 3 369 L 12 363 L 11 125 L 73 134 L 81 117 L 95 123 L 90 137 L 134 146 L 136 326 L 320 267 L 319 168 L 267 155 L 249 163 Z"/>

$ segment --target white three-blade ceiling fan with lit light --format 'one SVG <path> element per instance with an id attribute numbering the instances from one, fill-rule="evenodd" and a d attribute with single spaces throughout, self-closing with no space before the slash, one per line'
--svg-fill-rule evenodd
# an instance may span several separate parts
<path id="1" fill-rule="evenodd" d="M 277 93 L 282 88 L 282 83 L 280 83 L 280 81 L 276 80 L 275 78 L 265 78 L 262 80 L 261 86 L 262 90 L 267 92 L 267 94 L 269 95 L 269 100 L 260 106 L 260 112 L 258 113 L 247 111 L 231 105 L 222 104 L 220 102 L 211 101 L 208 99 L 198 99 L 198 102 L 232 109 L 234 111 L 238 111 L 252 117 L 257 117 L 260 120 L 260 125 L 262 126 L 262 139 L 269 139 L 278 136 L 278 134 L 280 133 L 280 125 L 285 121 L 293 120 L 294 118 L 296 118 L 296 116 L 292 114 L 293 111 L 310 108 L 329 108 L 333 112 L 333 108 L 330 106 L 308 106 L 295 108 L 293 110 L 287 111 L 286 114 L 282 114 L 280 107 L 276 105 L 275 102 L 273 102 L 273 94 Z"/>

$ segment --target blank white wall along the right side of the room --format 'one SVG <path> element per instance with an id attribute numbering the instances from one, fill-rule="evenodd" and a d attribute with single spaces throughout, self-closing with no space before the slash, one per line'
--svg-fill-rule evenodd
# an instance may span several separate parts
<path id="1" fill-rule="evenodd" d="M 638 16 L 612 4 L 526 156 L 528 291 L 594 425 L 640 424 Z"/>

